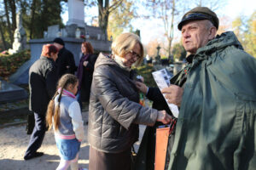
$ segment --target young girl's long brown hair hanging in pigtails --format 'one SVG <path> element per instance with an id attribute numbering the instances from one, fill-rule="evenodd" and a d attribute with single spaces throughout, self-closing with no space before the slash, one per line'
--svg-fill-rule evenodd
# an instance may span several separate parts
<path id="1" fill-rule="evenodd" d="M 60 80 L 58 82 L 56 93 L 55 93 L 54 97 L 49 101 L 49 105 L 47 108 L 46 124 L 49 126 L 49 129 L 52 127 L 52 124 L 53 124 L 52 117 L 54 117 L 55 130 L 57 130 L 59 128 L 59 125 L 60 125 L 60 103 L 61 103 L 61 96 L 62 96 L 63 89 L 64 88 L 67 89 L 67 86 L 69 84 L 72 84 L 74 87 L 78 81 L 79 81 L 78 78 L 76 76 L 74 76 L 73 74 L 65 74 L 60 78 Z M 58 88 L 61 88 L 61 93 L 58 98 L 58 105 L 55 106 L 55 97 L 59 94 Z"/>

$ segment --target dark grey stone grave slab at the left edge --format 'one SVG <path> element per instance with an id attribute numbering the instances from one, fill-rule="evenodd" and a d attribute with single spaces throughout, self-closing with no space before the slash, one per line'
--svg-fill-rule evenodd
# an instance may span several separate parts
<path id="1" fill-rule="evenodd" d="M 14 102 L 20 99 L 27 99 L 24 88 L 20 88 L 9 82 L 0 79 L 0 103 Z"/>

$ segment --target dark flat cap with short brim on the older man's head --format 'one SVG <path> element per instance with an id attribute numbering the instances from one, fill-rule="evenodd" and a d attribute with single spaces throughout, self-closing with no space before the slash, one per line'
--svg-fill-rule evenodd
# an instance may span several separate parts
<path id="1" fill-rule="evenodd" d="M 218 17 L 210 8 L 207 7 L 195 7 L 189 10 L 183 15 L 183 19 L 177 25 L 178 30 L 181 30 L 184 23 L 189 20 L 210 20 L 218 30 Z"/>

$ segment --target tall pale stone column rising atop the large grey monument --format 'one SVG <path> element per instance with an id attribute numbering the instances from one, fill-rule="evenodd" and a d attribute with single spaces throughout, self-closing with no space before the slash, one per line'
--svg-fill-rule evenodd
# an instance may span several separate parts
<path id="1" fill-rule="evenodd" d="M 76 24 L 79 27 L 84 27 L 84 0 L 68 0 L 67 5 L 67 26 Z"/>

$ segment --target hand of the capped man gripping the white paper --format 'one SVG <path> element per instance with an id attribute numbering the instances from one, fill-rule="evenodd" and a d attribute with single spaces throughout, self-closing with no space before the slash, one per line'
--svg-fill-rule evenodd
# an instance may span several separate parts
<path id="1" fill-rule="evenodd" d="M 181 105 L 183 97 L 183 88 L 180 88 L 176 85 L 171 85 L 168 88 L 163 88 L 161 92 L 165 95 L 168 103 L 177 106 Z"/>

